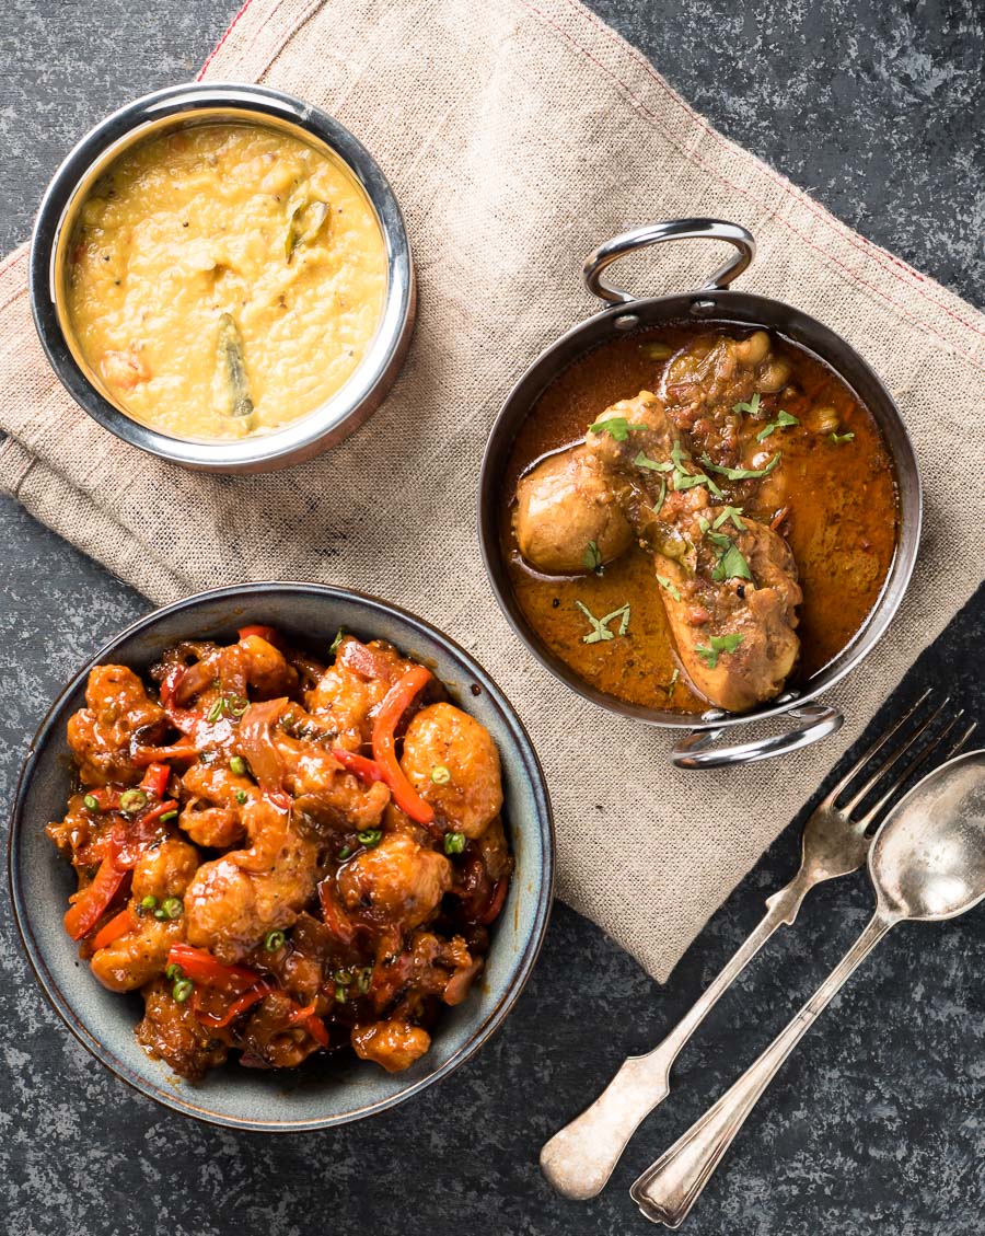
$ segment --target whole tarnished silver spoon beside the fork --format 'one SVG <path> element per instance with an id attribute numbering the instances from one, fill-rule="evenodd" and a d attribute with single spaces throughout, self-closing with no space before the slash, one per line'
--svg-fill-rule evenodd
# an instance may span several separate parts
<path id="1" fill-rule="evenodd" d="M 886 817 L 869 850 L 875 913 L 786 1030 L 629 1190 L 654 1222 L 679 1227 L 784 1060 L 818 1014 L 905 920 L 954 918 L 985 899 L 985 750 L 941 765 Z"/>

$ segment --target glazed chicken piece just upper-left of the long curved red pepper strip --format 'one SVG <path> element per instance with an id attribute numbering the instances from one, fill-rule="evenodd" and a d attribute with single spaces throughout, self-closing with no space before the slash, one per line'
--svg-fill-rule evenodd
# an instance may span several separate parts
<path id="1" fill-rule="evenodd" d="M 383 640 L 362 644 L 345 635 L 335 664 L 305 697 L 308 711 L 339 735 L 340 745 L 355 750 L 370 739 L 368 717 L 383 702 L 397 679 L 412 666 Z"/>

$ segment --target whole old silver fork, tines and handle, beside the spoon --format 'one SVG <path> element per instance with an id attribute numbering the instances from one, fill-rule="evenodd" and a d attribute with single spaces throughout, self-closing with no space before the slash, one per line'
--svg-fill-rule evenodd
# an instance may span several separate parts
<path id="1" fill-rule="evenodd" d="M 690 1012 L 667 1037 L 645 1056 L 630 1056 L 596 1101 L 555 1133 L 540 1152 L 540 1167 L 554 1188 L 566 1198 L 585 1200 L 606 1187 L 627 1142 L 645 1116 L 670 1093 L 670 1069 L 687 1041 L 724 995 L 734 979 L 753 960 L 774 932 L 791 925 L 803 899 L 816 885 L 856 871 L 869 853 L 870 826 L 892 795 L 953 733 L 964 714 L 960 709 L 923 748 L 913 753 L 927 729 L 949 703 L 941 703 L 923 716 L 931 695 L 927 690 L 916 703 L 879 738 L 811 813 L 805 829 L 801 865 L 797 874 L 779 892 L 766 900 L 766 913 L 724 969 L 698 997 Z M 877 756 L 915 716 L 918 724 L 886 759 Z M 974 723 L 965 729 L 954 751 L 970 737 Z M 912 758 L 903 761 L 903 756 Z M 901 761 L 903 761 L 901 764 Z M 882 779 L 894 772 L 877 801 L 861 815 L 856 808 Z M 839 800 L 848 795 L 847 801 Z"/>

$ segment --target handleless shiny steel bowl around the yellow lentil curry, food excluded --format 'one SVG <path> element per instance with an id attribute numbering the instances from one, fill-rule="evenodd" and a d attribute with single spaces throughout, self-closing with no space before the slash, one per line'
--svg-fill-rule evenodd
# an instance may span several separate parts
<path id="1" fill-rule="evenodd" d="M 78 211 L 122 151 L 151 136 L 215 121 L 262 124 L 340 159 L 376 211 L 387 246 L 383 316 L 346 384 L 300 420 L 235 441 L 172 438 L 127 415 L 82 356 L 64 304 L 66 258 Z M 414 325 L 414 272 L 400 208 L 373 157 L 339 121 L 260 85 L 178 85 L 148 94 L 96 125 L 58 168 L 41 201 L 31 241 L 31 307 L 37 332 L 68 393 L 100 425 L 141 450 L 208 472 L 266 472 L 299 464 L 358 428 L 392 386 Z"/>

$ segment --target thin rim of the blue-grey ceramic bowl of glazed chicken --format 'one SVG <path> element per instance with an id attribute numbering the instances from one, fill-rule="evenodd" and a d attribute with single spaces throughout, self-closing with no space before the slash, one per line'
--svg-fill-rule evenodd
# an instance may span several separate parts
<path id="1" fill-rule="evenodd" d="M 544 852 L 544 864 L 536 896 L 534 921 L 529 931 L 528 941 L 515 960 L 513 978 L 501 999 L 482 1018 L 478 1026 L 476 1026 L 476 1028 L 470 1033 L 468 1038 L 461 1044 L 461 1047 L 459 1047 L 457 1051 L 455 1051 L 434 1072 L 420 1078 L 397 1094 L 388 1095 L 384 1099 L 366 1104 L 355 1111 L 345 1112 L 342 1115 L 287 1122 L 243 1120 L 241 1117 L 227 1116 L 222 1112 L 213 1111 L 208 1106 L 190 1101 L 184 1093 L 171 1093 L 164 1089 L 163 1085 L 153 1085 L 140 1074 L 131 1072 L 130 1068 L 122 1063 L 122 1060 L 117 1059 L 111 1049 L 104 1046 L 101 1039 L 99 1039 L 89 1030 L 89 1027 L 75 1016 L 70 1004 L 62 994 L 62 990 L 52 974 L 48 971 L 48 968 L 41 955 L 41 948 L 33 937 L 31 915 L 27 908 L 23 890 L 21 889 L 19 874 L 19 868 L 21 865 L 20 837 L 22 828 L 26 826 L 26 797 L 35 774 L 38 753 L 63 726 L 68 701 L 79 690 L 79 687 L 84 686 L 90 670 L 101 664 L 103 660 L 108 655 L 112 654 L 112 651 L 125 640 L 129 640 L 133 635 L 138 635 L 140 633 L 152 628 L 163 617 L 180 613 L 185 609 L 194 611 L 204 602 L 241 599 L 243 596 L 248 596 L 250 598 L 262 598 L 264 595 L 278 592 L 303 592 L 309 596 L 323 597 L 325 599 L 341 599 L 347 602 L 355 601 L 356 603 L 365 606 L 370 613 L 386 613 L 395 616 L 397 618 L 407 622 L 412 628 L 416 628 L 425 638 L 438 643 L 454 660 L 456 660 L 467 671 L 468 676 L 482 686 L 483 691 L 503 717 L 503 721 L 505 722 L 510 735 L 517 744 L 517 748 L 523 758 L 524 774 L 530 782 L 538 805 L 536 827 L 540 832 Z M 7 887 L 11 897 L 14 922 L 16 923 L 25 954 L 31 969 L 35 973 L 35 978 L 41 986 L 41 990 L 48 999 L 48 1002 L 52 1005 L 54 1011 L 62 1017 L 64 1023 L 72 1031 L 74 1037 L 114 1075 L 126 1082 L 127 1085 L 137 1090 L 140 1094 L 154 1100 L 154 1103 L 158 1103 L 161 1106 L 195 1117 L 205 1124 L 219 1125 L 226 1128 L 243 1128 L 252 1132 L 306 1132 L 318 1128 L 331 1128 L 339 1125 L 352 1124 L 357 1120 L 365 1119 L 366 1116 L 386 1111 L 391 1107 L 395 1107 L 398 1104 L 405 1103 L 421 1090 L 447 1077 L 472 1056 L 475 1056 L 487 1039 L 491 1038 L 492 1035 L 496 1033 L 496 1031 L 502 1026 L 507 1015 L 512 1011 L 519 999 L 520 993 L 526 986 L 546 934 L 547 921 L 550 918 L 550 910 L 554 899 L 555 869 L 556 837 L 546 777 L 534 744 L 531 743 L 523 722 L 517 716 L 513 706 L 509 703 L 496 680 L 449 635 L 444 634 L 444 632 L 439 630 L 436 627 L 433 627 L 425 619 L 403 609 L 399 606 L 383 601 L 381 597 L 360 592 L 353 588 L 342 588 L 334 585 L 310 583 L 292 580 L 267 580 L 260 583 L 229 585 L 220 588 L 210 588 L 205 592 L 197 592 L 189 597 L 182 598 L 180 601 L 175 601 L 171 604 L 161 606 L 151 611 L 151 613 L 145 614 L 142 618 L 137 618 L 135 622 L 130 623 L 112 639 L 105 641 L 59 692 L 58 697 L 44 713 L 36 734 L 31 739 L 27 754 L 23 759 L 21 774 L 17 779 L 17 787 L 10 812 L 10 829 L 7 834 Z"/>

